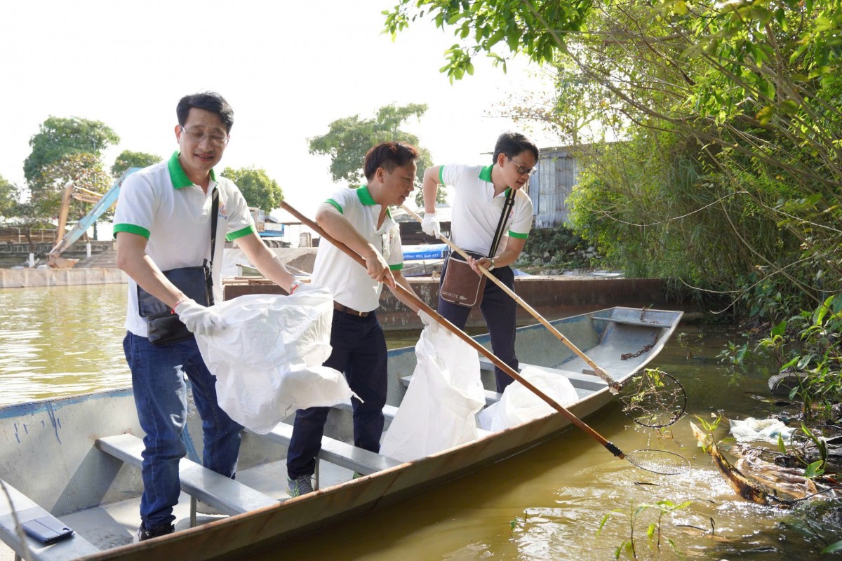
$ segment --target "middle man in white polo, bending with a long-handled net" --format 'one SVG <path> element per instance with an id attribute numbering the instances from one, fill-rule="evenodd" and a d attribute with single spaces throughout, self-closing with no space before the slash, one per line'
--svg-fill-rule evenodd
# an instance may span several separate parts
<path id="1" fill-rule="evenodd" d="M 327 240 L 318 245 L 312 282 L 333 293 L 332 352 L 324 366 L 345 374 L 360 400 L 354 405 L 354 446 L 380 451 L 383 405 L 386 405 L 386 337 L 375 310 L 383 284 L 412 310 L 417 306 L 395 289 L 413 292 L 401 273 L 403 251 L 390 205 L 402 204 L 413 191 L 418 151 L 404 142 L 384 142 L 365 155 L 365 186 L 344 188 L 319 206 L 316 221 L 334 239 L 365 258 L 366 268 Z M 413 292 L 414 294 L 414 292 Z M 424 322 L 429 316 L 420 312 Z M 286 457 L 286 491 L 312 492 L 312 475 L 322 447 L 328 407 L 296 412 Z"/>

